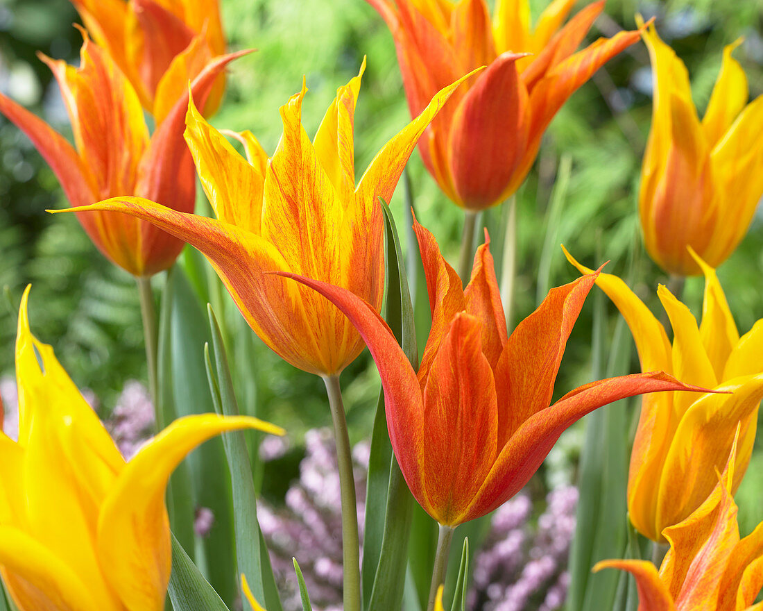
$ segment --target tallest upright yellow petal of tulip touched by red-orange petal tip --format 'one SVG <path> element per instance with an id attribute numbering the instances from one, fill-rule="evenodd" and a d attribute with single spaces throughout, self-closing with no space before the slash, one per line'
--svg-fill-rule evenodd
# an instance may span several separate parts
<path id="1" fill-rule="evenodd" d="M 739 331 L 736 330 L 736 322 L 731 315 L 729 303 L 726 302 L 726 295 L 723 294 L 715 270 L 705 263 L 694 250 L 690 250 L 689 254 L 694 257 L 705 275 L 700 337 L 705 351 L 707 351 L 707 357 L 713 365 L 716 378 L 724 380 L 723 369 L 726 367 L 729 354 L 739 343 Z"/>

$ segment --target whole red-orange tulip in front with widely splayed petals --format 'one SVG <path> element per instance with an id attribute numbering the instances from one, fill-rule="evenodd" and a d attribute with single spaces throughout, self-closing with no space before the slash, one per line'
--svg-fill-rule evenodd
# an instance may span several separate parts
<path id="1" fill-rule="evenodd" d="M 290 274 L 333 301 L 368 344 L 385 391 L 394 454 L 411 493 L 443 525 L 484 516 L 530 480 L 559 435 L 597 407 L 686 388 L 665 373 L 598 380 L 549 406 L 567 338 L 596 273 L 552 289 L 507 338 L 485 243 L 466 289 L 429 231 L 414 229 L 427 274 L 432 328 L 418 372 L 373 306 Z"/>

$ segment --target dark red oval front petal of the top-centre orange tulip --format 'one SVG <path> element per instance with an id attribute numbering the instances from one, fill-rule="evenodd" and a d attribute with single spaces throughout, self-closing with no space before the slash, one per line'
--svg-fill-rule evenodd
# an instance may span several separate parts
<path id="1" fill-rule="evenodd" d="M 484 209 L 504 192 L 522 158 L 529 124 L 527 90 L 516 61 L 504 53 L 478 76 L 456 113 L 449 139 L 449 165 L 466 208 Z"/>

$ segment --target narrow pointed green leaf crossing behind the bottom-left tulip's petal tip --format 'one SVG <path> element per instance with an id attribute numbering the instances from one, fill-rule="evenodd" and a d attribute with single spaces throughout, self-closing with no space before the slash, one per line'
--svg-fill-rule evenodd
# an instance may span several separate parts
<path id="1" fill-rule="evenodd" d="M 209 327 L 212 338 L 214 365 L 210 360 L 208 346 L 204 348 L 207 364 L 209 386 L 214 402 L 214 409 L 223 415 L 239 415 L 238 403 L 233 392 L 233 378 L 225 354 L 225 347 L 211 305 L 207 305 Z M 257 522 L 257 498 L 252 477 L 250 454 L 246 448 L 246 438 L 242 431 L 230 432 L 223 436 L 223 445 L 230 470 L 230 486 L 233 496 L 233 533 L 236 541 L 237 581 L 240 574 L 246 575 L 256 600 L 261 600 L 269 611 L 281 609 L 278 595 L 275 591 L 270 562 L 262 564 L 262 558 L 268 558 L 267 553 L 260 550 L 260 529 Z M 266 587 L 272 582 L 272 588 Z M 270 596 L 269 596 L 270 590 Z M 245 603 L 248 605 L 249 603 Z"/>

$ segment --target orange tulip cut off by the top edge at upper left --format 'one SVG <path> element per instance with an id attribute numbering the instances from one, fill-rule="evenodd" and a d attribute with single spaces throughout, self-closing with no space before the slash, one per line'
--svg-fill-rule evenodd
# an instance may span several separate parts
<path id="1" fill-rule="evenodd" d="M 93 39 L 130 79 L 141 104 L 162 121 L 213 57 L 225 53 L 217 0 L 71 0 Z M 217 76 L 204 106 L 220 105 Z M 169 104 L 168 104 L 169 101 Z"/>

